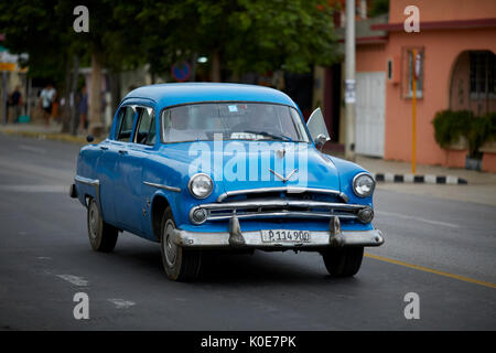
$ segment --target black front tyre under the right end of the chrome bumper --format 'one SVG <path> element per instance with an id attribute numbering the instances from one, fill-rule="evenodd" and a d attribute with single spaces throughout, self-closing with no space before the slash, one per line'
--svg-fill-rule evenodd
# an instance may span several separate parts
<path id="1" fill-rule="evenodd" d="M 364 247 L 330 248 L 322 254 L 327 271 L 335 277 L 352 277 L 358 272 Z"/>

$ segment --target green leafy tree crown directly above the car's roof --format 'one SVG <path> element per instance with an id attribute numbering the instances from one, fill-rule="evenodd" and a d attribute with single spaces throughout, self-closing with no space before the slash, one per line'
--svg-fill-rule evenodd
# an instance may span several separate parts
<path id="1" fill-rule="evenodd" d="M 276 69 L 305 73 L 313 64 L 337 60 L 333 9 L 325 0 L 150 3 L 138 19 L 157 23 L 155 33 L 165 32 L 152 44 L 168 49 L 162 65 L 195 53 L 207 55 L 215 82 L 222 81 L 223 69 L 234 75 Z"/>

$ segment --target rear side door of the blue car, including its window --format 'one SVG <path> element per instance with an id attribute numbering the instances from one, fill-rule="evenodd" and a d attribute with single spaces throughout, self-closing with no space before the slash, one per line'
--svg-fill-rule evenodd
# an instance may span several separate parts
<path id="1" fill-rule="evenodd" d="M 120 225 L 116 205 L 121 200 L 121 195 L 116 188 L 121 178 L 117 167 L 126 143 L 131 140 L 134 116 L 136 110 L 133 106 L 121 106 L 116 114 L 115 133 L 99 143 L 101 154 L 98 160 L 98 175 L 100 181 L 101 212 L 105 222 L 115 226 Z"/>

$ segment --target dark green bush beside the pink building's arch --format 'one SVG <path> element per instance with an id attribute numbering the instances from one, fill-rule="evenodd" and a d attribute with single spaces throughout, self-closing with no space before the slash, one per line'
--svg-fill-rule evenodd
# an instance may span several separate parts
<path id="1" fill-rule="evenodd" d="M 434 138 L 441 148 L 449 149 L 452 143 L 465 138 L 468 156 L 479 158 L 479 148 L 496 139 L 496 113 L 477 117 L 470 110 L 442 110 L 432 120 Z"/>

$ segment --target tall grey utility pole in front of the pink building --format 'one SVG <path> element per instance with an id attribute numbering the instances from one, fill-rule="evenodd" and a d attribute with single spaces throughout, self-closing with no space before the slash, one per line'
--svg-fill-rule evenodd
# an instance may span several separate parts
<path id="1" fill-rule="evenodd" d="M 345 38 L 345 158 L 355 161 L 355 0 L 346 0 Z"/>

